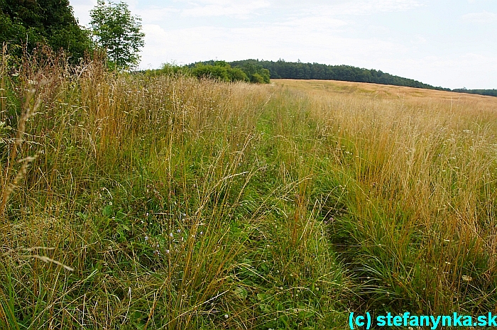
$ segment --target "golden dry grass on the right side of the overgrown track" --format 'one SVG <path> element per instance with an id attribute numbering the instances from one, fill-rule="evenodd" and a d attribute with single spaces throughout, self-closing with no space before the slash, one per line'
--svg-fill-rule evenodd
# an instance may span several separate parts
<path id="1" fill-rule="evenodd" d="M 400 301 L 415 312 L 493 310 L 497 99 L 277 84 L 305 93 L 326 141 L 322 155 L 334 159 L 329 171 L 349 177 L 348 216 L 334 219 L 333 231 L 369 286 L 366 308 Z"/>

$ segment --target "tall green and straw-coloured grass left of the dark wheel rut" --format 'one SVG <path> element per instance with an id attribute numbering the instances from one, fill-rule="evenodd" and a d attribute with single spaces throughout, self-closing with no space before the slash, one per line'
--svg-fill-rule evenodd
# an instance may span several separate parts
<path id="1" fill-rule="evenodd" d="M 6 65 L 2 177 L 11 157 L 38 156 L 1 214 L 2 327 L 292 329 L 344 319 L 348 280 L 320 207 L 307 212 L 292 197 L 305 180 L 266 182 L 277 167 L 258 127 L 273 91 L 116 74 L 99 60 L 69 67 L 47 53 L 26 57 L 18 76 Z M 41 81 L 50 83 L 24 120 L 26 89 Z"/>

